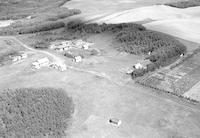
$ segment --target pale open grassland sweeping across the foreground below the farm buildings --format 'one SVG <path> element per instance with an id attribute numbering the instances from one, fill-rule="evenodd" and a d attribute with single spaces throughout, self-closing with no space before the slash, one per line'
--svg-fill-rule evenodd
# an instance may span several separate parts
<path id="1" fill-rule="evenodd" d="M 99 40 L 98 36 L 93 39 Z M 17 41 L 16 43 L 26 47 L 25 44 L 22 45 Z M 53 86 L 67 90 L 75 103 L 73 123 L 67 131 L 69 137 L 198 138 L 200 136 L 198 117 L 200 109 L 197 106 L 155 94 L 151 89 L 142 88 L 129 81 L 113 79 L 119 78 L 117 77 L 119 74 L 123 77 L 119 65 L 122 64 L 120 62 L 128 62 L 125 57 L 130 55 L 122 54 L 125 59 L 120 58 L 122 61 L 116 61 L 118 52 L 103 43 L 101 46 L 102 50 L 110 51 L 104 56 L 96 57 L 102 59 L 101 63 L 93 62 L 88 65 L 85 61 L 86 63 L 83 62 L 80 66 L 74 65 L 74 68 L 69 68 L 65 72 L 49 68 L 31 69 L 32 61 L 49 54 L 27 49 L 33 52 L 29 59 L 0 68 L 3 78 L 0 81 L 0 89 Z M 112 62 L 114 60 L 115 62 Z M 91 68 L 86 70 L 84 66 Z M 95 70 L 97 67 L 104 70 L 99 72 Z M 111 73 L 112 71 L 114 73 Z M 128 76 L 126 77 L 128 80 Z M 108 120 L 111 117 L 122 120 L 122 125 L 120 127 L 110 125 Z"/>

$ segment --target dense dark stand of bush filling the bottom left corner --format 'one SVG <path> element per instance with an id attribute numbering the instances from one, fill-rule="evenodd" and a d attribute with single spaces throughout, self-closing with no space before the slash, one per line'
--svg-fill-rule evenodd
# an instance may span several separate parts
<path id="1" fill-rule="evenodd" d="M 61 137 L 73 113 L 62 89 L 23 88 L 0 95 L 0 137 Z"/>

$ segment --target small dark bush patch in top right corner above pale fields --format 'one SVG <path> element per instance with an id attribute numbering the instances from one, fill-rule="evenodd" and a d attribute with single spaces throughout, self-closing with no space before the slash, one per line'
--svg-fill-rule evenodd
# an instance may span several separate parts
<path id="1" fill-rule="evenodd" d="M 200 6 L 200 0 L 179 1 L 179 2 L 167 3 L 165 5 L 176 8 L 189 8 L 189 7 Z"/>

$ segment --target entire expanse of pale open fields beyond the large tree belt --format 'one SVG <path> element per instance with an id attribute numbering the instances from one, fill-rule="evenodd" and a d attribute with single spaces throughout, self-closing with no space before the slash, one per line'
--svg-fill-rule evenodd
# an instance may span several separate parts
<path id="1" fill-rule="evenodd" d="M 144 26 L 150 30 L 200 43 L 200 6 L 180 9 L 156 5 L 167 2 L 170 2 L 170 0 L 150 0 L 148 2 L 142 0 L 108 0 L 109 5 L 105 1 L 72 0 L 65 6 L 80 9 L 82 15 L 79 15 L 79 17 L 85 21 L 127 23 L 147 20 L 150 22 L 144 24 Z"/>

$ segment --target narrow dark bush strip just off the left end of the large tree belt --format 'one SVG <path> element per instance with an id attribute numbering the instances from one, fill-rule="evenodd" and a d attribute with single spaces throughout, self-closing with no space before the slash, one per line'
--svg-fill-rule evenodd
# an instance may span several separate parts
<path id="1" fill-rule="evenodd" d="M 36 24 L 33 26 L 22 27 L 21 29 L 18 30 L 18 32 L 19 34 L 36 33 L 36 32 L 41 32 L 41 31 L 58 29 L 64 26 L 65 26 L 65 23 L 62 21 L 56 21 L 56 22 L 49 21 L 49 22 L 44 22 L 41 24 Z"/>

